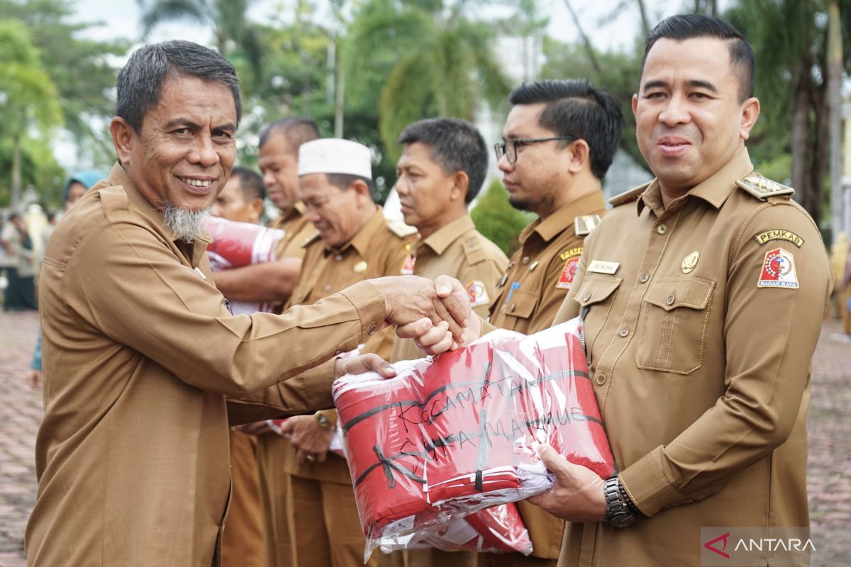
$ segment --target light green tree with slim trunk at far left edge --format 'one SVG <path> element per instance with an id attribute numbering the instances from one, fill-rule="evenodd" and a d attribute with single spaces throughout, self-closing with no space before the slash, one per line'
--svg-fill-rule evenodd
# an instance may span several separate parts
<path id="1" fill-rule="evenodd" d="M 59 94 L 23 22 L 0 20 L 0 133 L 11 136 L 13 208 L 20 205 L 20 143 L 31 128 L 47 134 L 62 123 Z"/>

